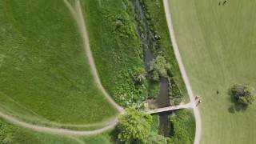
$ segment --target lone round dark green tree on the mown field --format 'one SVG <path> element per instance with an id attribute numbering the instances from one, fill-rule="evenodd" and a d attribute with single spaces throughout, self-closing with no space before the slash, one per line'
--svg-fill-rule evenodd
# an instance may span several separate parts
<path id="1" fill-rule="evenodd" d="M 255 101 L 254 88 L 249 85 L 237 84 L 232 86 L 231 94 L 242 105 L 251 105 Z"/>

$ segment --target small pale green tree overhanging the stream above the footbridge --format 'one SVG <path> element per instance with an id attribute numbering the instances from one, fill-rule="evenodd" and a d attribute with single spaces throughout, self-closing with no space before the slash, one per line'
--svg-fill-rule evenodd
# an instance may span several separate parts
<path id="1" fill-rule="evenodd" d="M 167 77 L 170 64 L 166 62 L 166 58 L 162 55 L 158 55 L 157 58 L 150 63 L 150 70 L 153 71 L 152 78 L 158 80 L 160 77 Z"/>

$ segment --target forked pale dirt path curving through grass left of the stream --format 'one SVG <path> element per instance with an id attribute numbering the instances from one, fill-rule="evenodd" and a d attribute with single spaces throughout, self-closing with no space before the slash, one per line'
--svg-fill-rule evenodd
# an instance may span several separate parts
<path id="1" fill-rule="evenodd" d="M 83 14 L 82 14 L 82 8 L 80 1 L 77 0 L 75 2 L 75 6 L 71 6 L 67 0 L 64 0 L 66 3 L 66 6 L 70 10 L 70 13 L 73 15 L 74 19 L 78 23 L 78 28 L 80 30 L 80 34 L 82 36 L 83 42 L 84 42 L 84 49 L 86 50 L 86 57 L 88 58 L 89 64 L 90 64 L 90 70 L 93 74 L 94 81 L 96 82 L 98 89 L 102 90 L 102 93 L 106 97 L 107 101 L 110 102 L 121 114 L 124 114 L 124 110 L 121 106 L 118 106 L 117 103 L 114 102 L 114 100 L 110 97 L 109 94 L 106 93 L 106 90 L 102 86 L 102 83 L 98 77 L 98 72 L 94 63 L 94 58 L 93 55 L 90 51 L 90 44 L 89 44 L 89 38 L 87 35 L 86 31 L 86 24 L 84 22 Z M 35 130 L 38 132 L 43 132 L 47 134 L 60 134 L 60 135 L 66 135 L 66 136 L 80 136 L 80 135 L 92 135 L 92 134 L 101 134 L 102 132 L 106 130 L 112 130 L 114 129 L 115 126 L 118 124 L 118 118 L 114 118 L 111 120 L 109 124 L 106 126 L 97 129 L 97 130 L 68 130 L 68 129 L 62 129 L 62 128 L 50 128 L 46 126 L 37 126 L 34 124 L 22 122 L 18 118 L 14 118 L 11 115 L 4 114 L 3 112 L 0 111 L 0 117 L 5 119 L 8 122 L 13 123 L 14 125 L 22 126 L 24 128 L 30 129 L 30 130 Z"/>

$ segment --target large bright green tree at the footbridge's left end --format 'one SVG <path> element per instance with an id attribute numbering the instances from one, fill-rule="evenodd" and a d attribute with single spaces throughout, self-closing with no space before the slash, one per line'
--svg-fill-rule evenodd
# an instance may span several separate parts
<path id="1" fill-rule="evenodd" d="M 150 135 L 152 116 L 135 110 L 134 108 L 126 109 L 126 114 L 119 118 L 118 138 L 125 143 L 145 143 Z"/>

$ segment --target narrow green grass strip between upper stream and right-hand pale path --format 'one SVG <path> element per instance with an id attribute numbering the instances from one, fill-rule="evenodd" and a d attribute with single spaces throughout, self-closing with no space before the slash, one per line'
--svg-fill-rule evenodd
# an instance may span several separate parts
<path id="1" fill-rule="evenodd" d="M 167 61 L 170 62 L 170 69 L 174 75 L 174 81 L 177 83 L 178 88 L 182 90 L 184 95 L 184 100 L 187 100 L 186 87 L 182 80 L 182 75 L 178 68 L 178 63 L 176 61 L 172 44 L 170 42 L 170 34 L 168 31 L 168 26 L 165 17 L 165 10 L 163 8 L 162 0 L 145 0 L 146 6 L 150 10 L 150 16 L 152 18 L 152 23 L 154 24 L 155 30 L 158 31 L 161 39 L 159 44 L 163 55 L 166 57 Z"/>

